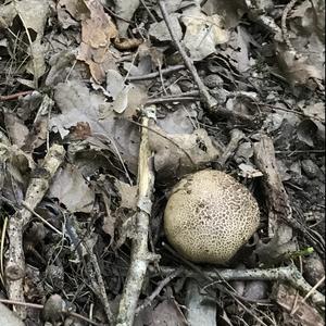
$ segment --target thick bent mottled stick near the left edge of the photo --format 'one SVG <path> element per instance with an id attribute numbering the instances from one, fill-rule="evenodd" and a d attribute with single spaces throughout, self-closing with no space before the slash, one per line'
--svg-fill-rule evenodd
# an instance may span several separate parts
<path id="1" fill-rule="evenodd" d="M 25 202 L 28 208 L 34 210 L 48 191 L 50 181 L 58 167 L 64 159 L 64 148 L 53 145 L 46 155 L 42 165 L 35 168 L 34 177 L 28 185 Z M 26 208 L 11 216 L 8 227 L 9 250 L 5 265 L 7 293 L 9 299 L 24 302 L 23 279 L 25 276 L 25 256 L 23 250 L 23 233 L 29 223 L 33 213 Z M 26 311 L 22 308 L 17 311 L 21 317 L 25 317 Z"/>

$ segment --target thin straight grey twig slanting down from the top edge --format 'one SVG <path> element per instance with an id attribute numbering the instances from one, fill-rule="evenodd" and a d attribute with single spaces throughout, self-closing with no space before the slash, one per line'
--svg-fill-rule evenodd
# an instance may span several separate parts
<path id="1" fill-rule="evenodd" d="M 178 39 L 177 39 L 173 28 L 172 28 L 172 23 L 171 23 L 171 20 L 170 20 L 170 15 L 168 15 L 168 13 L 166 11 L 166 8 L 165 8 L 165 1 L 164 0 L 159 0 L 159 7 L 161 9 L 161 12 L 162 12 L 163 18 L 165 21 L 166 27 L 170 32 L 171 38 L 173 39 L 173 41 L 174 41 L 175 46 L 177 47 L 178 51 L 180 52 L 186 67 L 189 70 L 190 74 L 192 75 L 192 78 L 193 78 L 195 83 L 198 86 L 200 98 L 201 98 L 203 104 L 209 110 L 209 112 L 212 112 L 212 113 L 215 112 L 216 108 L 217 108 L 217 101 L 208 91 L 206 87 L 204 86 L 204 84 L 200 79 L 192 61 L 187 55 L 185 49 L 181 47 L 180 42 L 178 41 Z"/>

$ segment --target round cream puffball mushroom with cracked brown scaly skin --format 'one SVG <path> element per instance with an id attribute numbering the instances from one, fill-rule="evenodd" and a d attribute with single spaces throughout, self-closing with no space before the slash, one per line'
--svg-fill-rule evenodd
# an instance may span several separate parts
<path id="1" fill-rule="evenodd" d="M 183 178 L 164 212 L 168 242 L 189 261 L 224 264 L 254 234 L 259 205 L 231 176 L 204 170 Z"/>

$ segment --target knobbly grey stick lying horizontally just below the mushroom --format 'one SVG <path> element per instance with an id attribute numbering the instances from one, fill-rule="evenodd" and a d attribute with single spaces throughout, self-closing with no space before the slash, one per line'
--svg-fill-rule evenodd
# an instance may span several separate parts
<path id="1" fill-rule="evenodd" d="M 174 268 L 161 266 L 161 272 L 170 275 Z M 215 272 L 214 272 L 215 271 Z M 153 272 L 153 271 L 150 271 Z M 185 269 L 189 277 L 198 278 L 198 274 Z M 312 291 L 313 287 L 304 279 L 301 273 L 294 265 L 277 268 L 253 268 L 253 269 L 213 269 L 202 272 L 208 278 L 212 280 L 276 280 L 291 285 L 294 289 L 301 291 L 303 294 L 311 293 L 312 302 L 321 308 L 325 305 L 325 296 L 318 291 Z"/>

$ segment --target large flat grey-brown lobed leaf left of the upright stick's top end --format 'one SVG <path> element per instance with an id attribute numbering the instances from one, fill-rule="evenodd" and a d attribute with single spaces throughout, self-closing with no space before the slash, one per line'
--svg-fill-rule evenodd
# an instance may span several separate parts
<path id="1" fill-rule="evenodd" d="M 137 173 L 138 126 L 125 118 L 118 118 L 113 110 L 106 110 L 103 116 L 103 108 L 111 108 L 103 95 L 90 92 L 80 82 L 67 82 L 58 84 L 54 99 L 61 114 L 52 115 L 51 129 L 59 131 L 64 138 L 70 135 L 72 127 L 76 127 L 78 123 L 87 123 L 92 142 L 102 143 L 103 148 L 121 156 L 133 173 Z"/>

